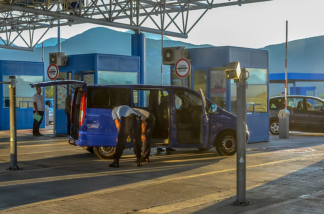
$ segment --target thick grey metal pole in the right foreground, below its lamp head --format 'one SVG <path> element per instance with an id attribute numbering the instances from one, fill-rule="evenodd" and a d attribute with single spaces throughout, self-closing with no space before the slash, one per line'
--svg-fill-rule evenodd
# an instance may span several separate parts
<path id="1" fill-rule="evenodd" d="M 241 68 L 241 81 L 236 83 L 237 118 L 236 118 L 236 201 L 234 205 L 247 206 L 246 199 L 246 69 Z"/>

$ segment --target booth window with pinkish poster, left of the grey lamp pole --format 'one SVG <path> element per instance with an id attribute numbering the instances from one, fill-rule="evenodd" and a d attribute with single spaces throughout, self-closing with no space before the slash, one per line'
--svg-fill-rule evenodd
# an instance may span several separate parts
<path id="1" fill-rule="evenodd" d="M 226 109 L 225 67 L 210 68 L 210 100 Z"/>

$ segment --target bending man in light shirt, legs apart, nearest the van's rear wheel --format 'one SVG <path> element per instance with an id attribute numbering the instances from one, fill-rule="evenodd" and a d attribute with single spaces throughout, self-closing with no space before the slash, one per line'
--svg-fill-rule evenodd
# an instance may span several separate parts
<path id="1" fill-rule="evenodd" d="M 134 144 L 134 153 L 136 155 L 137 166 L 142 166 L 141 163 L 141 146 L 138 139 L 139 115 L 137 115 L 131 107 L 121 105 L 111 108 L 112 119 L 115 121 L 118 130 L 116 153 L 114 154 L 114 162 L 110 163 L 110 167 L 119 167 L 119 159 L 125 149 L 127 137 L 131 135 Z"/>

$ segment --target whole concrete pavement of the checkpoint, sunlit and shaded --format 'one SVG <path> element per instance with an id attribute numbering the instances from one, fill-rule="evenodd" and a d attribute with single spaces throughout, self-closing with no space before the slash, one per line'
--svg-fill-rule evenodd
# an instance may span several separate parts
<path id="1" fill-rule="evenodd" d="M 30 131 L 30 130 L 29 130 Z M 126 149 L 109 168 L 67 137 L 18 130 L 19 171 L 10 166 L 9 137 L 0 132 L 0 212 L 6 213 L 323 213 L 324 134 L 247 145 L 247 199 L 236 199 L 236 156 L 215 149 L 152 149 L 136 167 Z"/>

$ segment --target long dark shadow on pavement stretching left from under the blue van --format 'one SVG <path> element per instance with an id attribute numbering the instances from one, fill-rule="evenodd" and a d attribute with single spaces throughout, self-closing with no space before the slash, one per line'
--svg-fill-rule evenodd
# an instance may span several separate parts
<path id="1" fill-rule="evenodd" d="M 179 151 L 154 156 L 150 163 L 145 163 L 142 167 L 136 167 L 135 158 L 123 158 L 121 167 L 117 169 L 108 167 L 111 161 L 98 160 L 91 153 L 19 161 L 18 164 L 22 167 L 28 165 L 38 168 L 0 174 L 0 192 L 6 193 L 0 200 L 0 209 L 128 184 L 144 185 L 152 179 L 163 180 L 179 173 L 188 175 L 195 169 L 204 169 L 225 158 L 216 151 Z M 71 165 L 64 166 L 66 162 Z M 7 167 L 7 164 L 0 163 L 0 167 Z"/>

